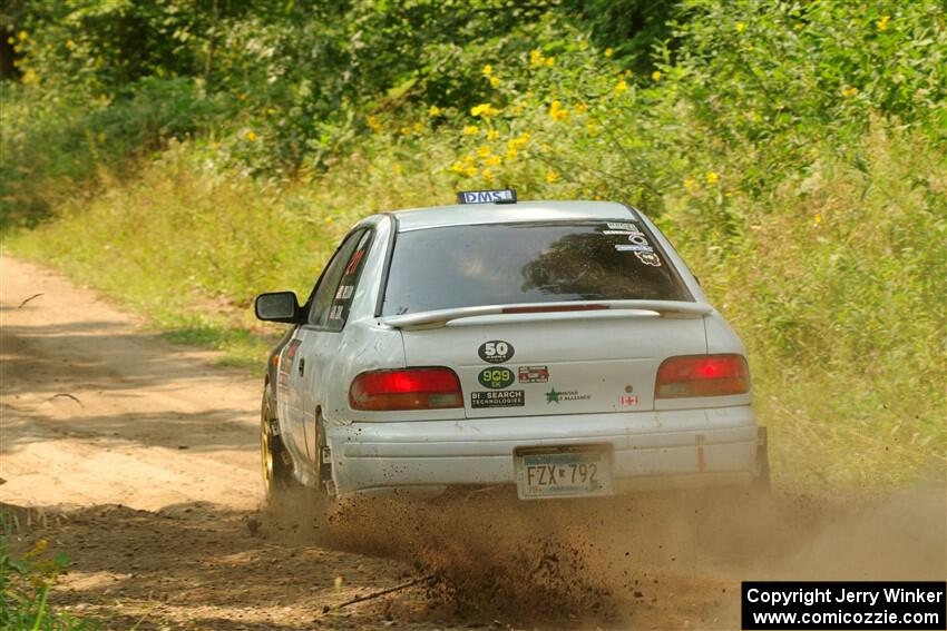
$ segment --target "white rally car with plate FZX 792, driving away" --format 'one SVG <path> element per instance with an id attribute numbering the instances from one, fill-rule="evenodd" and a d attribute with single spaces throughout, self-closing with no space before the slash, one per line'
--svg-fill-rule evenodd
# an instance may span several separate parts
<path id="1" fill-rule="evenodd" d="M 760 486 L 745 352 L 644 215 L 459 194 L 342 240 L 269 363 L 269 492 L 520 499 Z M 471 204 L 472 203 L 472 204 Z"/>

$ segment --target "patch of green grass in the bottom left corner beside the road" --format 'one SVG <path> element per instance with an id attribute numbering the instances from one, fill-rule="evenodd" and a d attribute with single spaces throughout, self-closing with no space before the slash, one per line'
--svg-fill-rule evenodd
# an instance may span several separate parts
<path id="1" fill-rule="evenodd" d="M 50 554 L 45 539 L 37 540 L 32 549 L 22 555 L 10 554 L 7 538 L 14 526 L 14 519 L 7 512 L 0 512 L 0 629 L 96 629 L 88 620 L 51 611 L 47 602 L 49 590 L 69 566 L 69 556 L 62 552 Z"/>

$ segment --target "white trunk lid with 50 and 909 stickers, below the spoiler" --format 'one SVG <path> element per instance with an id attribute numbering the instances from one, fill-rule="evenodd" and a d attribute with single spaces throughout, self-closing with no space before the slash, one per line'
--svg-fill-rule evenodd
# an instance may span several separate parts
<path id="1" fill-rule="evenodd" d="M 653 410 L 661 362 L 706 352 L 700 318 L 634 310 L 569 315 L 402 331 L 408 365 L 452 368 L 470 418 L 587 414 Z"/>

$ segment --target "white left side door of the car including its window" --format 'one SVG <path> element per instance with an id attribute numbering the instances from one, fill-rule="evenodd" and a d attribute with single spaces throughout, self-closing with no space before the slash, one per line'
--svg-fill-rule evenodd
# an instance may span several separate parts
<path id="1" fill-rule="evenodd" d="M 306 324 L 296 334 L 299 368 L 291 377 L 297 394 L 293 426 L 302 434 L 297 444 L 305 445 L 304 460 L 311 467 L 319 462 L 316 410 L 323 398 L 320 390 L 325 383 L 326 364 L 338 352 L 370 243 L 367 228 L 354 230 L 342 241 L 313 293 Z"/>

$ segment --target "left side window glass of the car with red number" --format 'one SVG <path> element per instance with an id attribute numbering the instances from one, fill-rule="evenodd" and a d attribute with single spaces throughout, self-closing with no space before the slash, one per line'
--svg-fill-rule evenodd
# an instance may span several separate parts
<path id="1" fill-rule="evenodd" d="M 370 245 L 370 230 L 355 233 L 345 239 L 315 289 L 310 324 L 329 331 L 342 331 L 349 318 L 355 285 Z"/>

